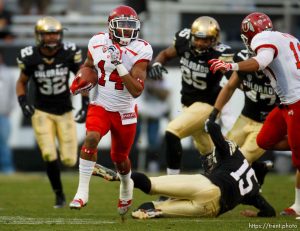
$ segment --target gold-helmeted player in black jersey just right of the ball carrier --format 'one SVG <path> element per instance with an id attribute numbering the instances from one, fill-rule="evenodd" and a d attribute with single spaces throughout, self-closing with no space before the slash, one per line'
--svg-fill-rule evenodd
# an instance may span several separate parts
<path id="1" fill-rule="evenodd" d="M 219 42 L 218 22 L 208 16 L 197 18 L 191 29 L 176 33 L 174 44 L 161 51 L 149 70 L 149 78 L 161 78 L 167 61 L 179 57 L 182 73 L 183 112 L 172 120 L 165 133 L 167 173 L 178 174 L 182 158 L 181 139 L 192 136 L 202 155 L 213 151 L 213 143 L 204 131 L 204 122 L 221 90 L 222 74 L 209 70 L 211 57 L 232 61 L 231 48 Z"/>

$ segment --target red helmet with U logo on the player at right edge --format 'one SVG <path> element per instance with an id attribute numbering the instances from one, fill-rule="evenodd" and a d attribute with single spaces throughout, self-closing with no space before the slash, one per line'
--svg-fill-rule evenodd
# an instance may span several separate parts
<path id="1" fill-rule="evenodd" d="M 265 30 L 272 30 L 273 24 L 271 19 L 264 13 L 254 12 L 247 15 L 241 24 L 241 38 L 249 49 L 252 38 Z"/>

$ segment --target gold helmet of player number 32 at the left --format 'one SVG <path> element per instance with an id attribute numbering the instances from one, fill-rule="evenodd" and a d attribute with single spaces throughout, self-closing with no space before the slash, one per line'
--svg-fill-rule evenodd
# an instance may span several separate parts
<path id="1" fill-rule="evenodd" d="M 55 33 L 59 34 L 57 40 L 45 41 L 44 34 Z M 50 16 L 39 19 L 35 25 L 35 40 L 36 45 L 48 49 L 56 49 L 61 45 L 63 38 L 63 28 L 61 23 Z"/>

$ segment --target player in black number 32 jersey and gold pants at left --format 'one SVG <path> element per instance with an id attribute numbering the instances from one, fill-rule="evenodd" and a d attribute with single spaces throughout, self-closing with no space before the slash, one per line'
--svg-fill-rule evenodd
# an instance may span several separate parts
<path id="1" fill-rule="evenodd" d="M 70 72 L 76 74 L 82 63 L 81 50 L 74 43 L 63 43 L 63 28 L 53 17 L 43 17 L 35 25 L 36 46 L 20 50 L 17 62 L 20 76 L 16 91 L 23 114 L 31 117 L 35 137 L 46 163 L 48 178 L 56 194 L 54 208 L 65 205 L 56 151 L 59 143 L 60 160 L 66 166 L 77 162 L 76 124 L 72 114 L 69 90 Z M 27 99 L 28 83 L 34 83 L 34 103 Z M 77 122 L 84 122 L 88 96 L 82 96 L 82 108 Z"/>

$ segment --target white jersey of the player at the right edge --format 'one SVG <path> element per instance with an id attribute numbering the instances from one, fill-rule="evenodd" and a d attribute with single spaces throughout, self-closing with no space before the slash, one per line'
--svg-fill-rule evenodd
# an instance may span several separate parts
<path id="1" fill-rule="evenodd" d="M 275 51 L 273 61 L 263 70 L 270 78 L 280 101 L 292 104 L 300 100 L 300 43 L 290 34 L 263 31 L 253 37 L 251 49 L 255 53 L 262 48 Z"/>

